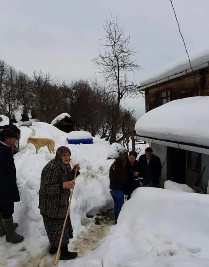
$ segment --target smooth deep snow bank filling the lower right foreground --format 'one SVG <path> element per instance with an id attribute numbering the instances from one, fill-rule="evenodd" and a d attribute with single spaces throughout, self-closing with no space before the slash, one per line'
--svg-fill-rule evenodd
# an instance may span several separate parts
<path id="1" fill-rule="evenodd" d="M 135 190 L 103 244 L 71 267 L 208 267 L 209 198 Z"/>

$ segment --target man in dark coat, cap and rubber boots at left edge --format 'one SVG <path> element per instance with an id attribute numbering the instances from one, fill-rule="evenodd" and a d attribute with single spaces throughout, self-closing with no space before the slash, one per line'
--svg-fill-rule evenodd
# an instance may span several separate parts
<path id="1" fill-rule="evenodd" d="M 15 132 L 3 129 L 0 133 L 0 236 L 6 235 L 6 241 L 19 243 L 23 236 L 15 232 L 17 223 L 13 223 L 14 202 L 20 201 L 17 187 L 16 168 L 11 145 L 15 142 Z"/>

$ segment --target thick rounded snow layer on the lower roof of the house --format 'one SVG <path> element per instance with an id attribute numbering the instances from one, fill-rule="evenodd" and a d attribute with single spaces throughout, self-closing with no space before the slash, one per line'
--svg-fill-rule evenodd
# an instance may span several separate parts
<path id="1" fill-rule="evenodd" d="M 145 113 L 135 125 L 143 137 L 209 147 L 209 96 L 173 100 Z"/>

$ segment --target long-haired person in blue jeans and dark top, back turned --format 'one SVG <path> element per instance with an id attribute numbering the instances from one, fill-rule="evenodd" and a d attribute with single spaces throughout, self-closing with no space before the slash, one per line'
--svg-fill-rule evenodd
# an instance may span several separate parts
<path id="1" fill-rule="evenodd" d="M 124 203 L 123 188 L 126 182 L 125 158 L 116 158 L 109 168 L 109 189 L 114 202 L 115 224 Z"/>

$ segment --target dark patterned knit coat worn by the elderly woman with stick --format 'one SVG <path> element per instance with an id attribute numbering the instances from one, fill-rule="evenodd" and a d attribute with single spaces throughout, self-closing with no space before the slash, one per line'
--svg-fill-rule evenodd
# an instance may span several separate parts
<path id="1" fill-rule="evenodd" d="M 74 170 L 66 168 L 55 159 L 49 161 L 41 173 L 41 187 L 39 191 L 39 209 L 41 215 L 49 218 L 62 219 L 66 215 L 70 190 L 63 188 L 63 183 L 72 181 Z M 77 176 L 79 175 L 77 172 Z"/>

